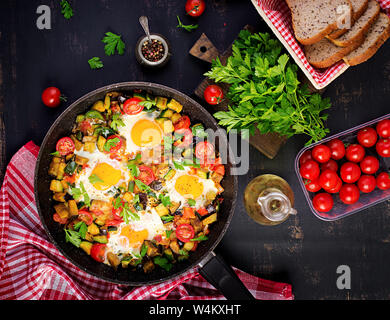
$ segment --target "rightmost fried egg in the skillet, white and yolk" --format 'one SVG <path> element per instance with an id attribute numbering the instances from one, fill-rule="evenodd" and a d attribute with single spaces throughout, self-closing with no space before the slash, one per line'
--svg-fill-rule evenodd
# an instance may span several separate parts
<path id="1" fill-rule="evenodd" d="M 187 205 L 188 199 L 195 200 L 195 209 L 204 207 L 208 192 L 218 193 L 215 183 L 211 179 L 202 179 L 191 174 L 191 169 L 177 170 L 175 176 L 166 182 L 165 189 L 170 200 L 181 203 L 180 208 Z"/>

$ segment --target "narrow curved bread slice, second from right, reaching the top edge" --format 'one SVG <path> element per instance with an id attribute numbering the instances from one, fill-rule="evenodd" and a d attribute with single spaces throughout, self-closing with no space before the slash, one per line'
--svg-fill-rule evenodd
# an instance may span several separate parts
<path id="1" fill-rule="evenodd" d="M 365 35 L 379 16 L 380 6 L 376 0 L 370 0 L 366 12 L 355 22 L 351 29 L 331 41 L 339 47 L 348 47 Z"/>

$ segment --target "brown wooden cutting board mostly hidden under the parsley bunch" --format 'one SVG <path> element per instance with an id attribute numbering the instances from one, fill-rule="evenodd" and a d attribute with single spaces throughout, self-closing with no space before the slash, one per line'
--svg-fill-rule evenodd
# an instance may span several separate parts
<path id="1" fill-rule="evenodd" d="M 250 26 L 245 26 L 245 29 L 253 31 L 253 28 Z M 217 57 L 220 58 L 223 64 L 226 63 L 228 57 L 232 54 L 232 46 L 224 53 L 220 54 L 218 49 L 213 45 L 213 43 L 209 40 L 209 38 L 203 33 L 199 40 L 195 43 L 195 45 L 191 48 L 190 54 L 196 58 L 199 58 L 203 61 L 211 63 Z M 195 90 L 195 95 L 204 100 L 203 92 L 207 88 L 207 86 L 215 84 L 214 81 L 205 78 L 199 86 Z M 222 88 L 222 90 L 226 93 L 229 89 L 229 85 L 218 83 L 218 85 Z M 228 109 L 229 100 L 223 99 L 221 103 L 217 106 L 212 107 L 213 112 L 217 111 L 226 111 Z M 213 113 L 212 112 L 212 113 Z M 280 148 L 286 142 L 286 138 L 276 134 L 276 133 L 268 133 L 268 134 L 260 134 L 257 132 L 254 136 L 250 137 L 250 144 L 267 156 L 270 159 L 275 158 Z"/>

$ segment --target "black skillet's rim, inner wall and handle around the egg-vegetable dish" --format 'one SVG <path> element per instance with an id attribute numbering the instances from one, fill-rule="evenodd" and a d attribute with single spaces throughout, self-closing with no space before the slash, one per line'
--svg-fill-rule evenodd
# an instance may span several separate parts
<path id="1" fill-rule="evenodd" d="M 48 168 L 52 159 L 50 153 L 55 151 L 56 143 L 60 138 L 69 135 L 76 116 L 85 113 L 95 101 L 104 99 L 105 95 L 111 91 L 126 92 L 134 89 L 142 89 L 153 95 L 174 98 L 183 104 L 183 113 L 191 118 L 191 122 L 202 122 L 206 128 L 219 129 L 214 118 L 201 105 L 188 96 L 159 84 L 145 82 L 119 83 L 97 89 L 83 96 L 66 109 L 54 122 L 42 143 L 38 155 L 34 181 L 35 200 L 46 233 L 60 252 L 74 265 L 89 274 L 109 282 L 129 286 L 156 284 L 170 280 L 199 265 L 201 274 L 215 287 L 219 288 L 226 298 L 253 299 L 230 266 L 227 266 L 219 256 L 213 253 L 213 250 L 228 229 L 236 204 L 237 176 L 234 174 L 234 160 L 231 153 L 228 155 L 227 174 L 222 184 L 225 188 L 223 194 L 224 202 L 221 206 L 218 221 L 212 226 L 209 240 L 201 242 L 196 252 L 190 254 L 187 262 L 176 263 L 170 272 L 161 268 L 156 268 L 150 274 L 122 268 L 115 271 L 109 266 L 95 262 L 82 250 L 78 250 L 72 244 L 66 243 L 63 229 L 53 220 L 53 200 L 49 190 L 51 178 L 48 175 Z M 226 135 L 216 139 L 217 149 L 221 149 L 223 146 L 228 146 Z"/>

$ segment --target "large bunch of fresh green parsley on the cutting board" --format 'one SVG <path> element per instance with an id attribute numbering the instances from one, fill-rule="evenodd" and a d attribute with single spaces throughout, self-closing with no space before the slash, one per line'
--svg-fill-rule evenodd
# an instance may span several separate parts
<path id="1" fill-rule="evenodd" d="M 324 121 L 328 115 L 322 112 L 330 108 L 330 101 L 301 85 L 297 65 L 282 53 L 278 40 L 268 33 L 242 30 L 232 51 L 226 66 L 217 58 L 205 74 L 216 82 L 230 84 L 228 111 L 214 115 L 220 125 L 228 131 L 249 129 L 252 135 L 256 129 L 287 138 L 306 134 L 311 138 L 308 144 L 326 136 L 329 129 Z"/>

